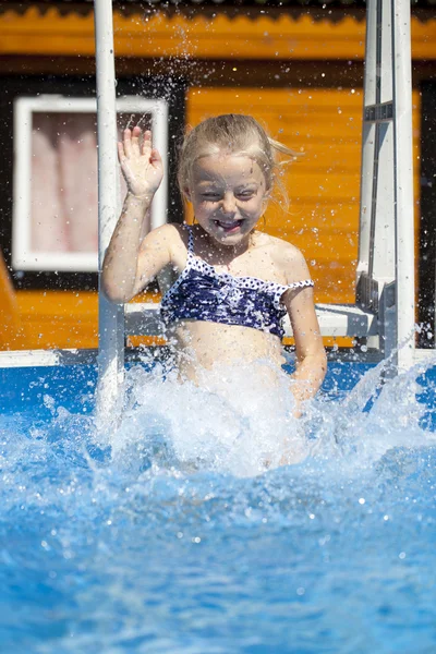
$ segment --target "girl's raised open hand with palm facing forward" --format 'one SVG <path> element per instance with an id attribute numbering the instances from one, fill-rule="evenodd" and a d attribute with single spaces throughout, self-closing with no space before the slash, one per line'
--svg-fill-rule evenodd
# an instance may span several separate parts
<path id="1" fill-rule="evenodd" d="M 125 129 L 122 142 L 118 143 L 118 159 L 130 193 L 136 196 L 156 193 L 164 166 L 158 150 L 152 147 L 150 131 L 142 134 L 138 126 Z"/>

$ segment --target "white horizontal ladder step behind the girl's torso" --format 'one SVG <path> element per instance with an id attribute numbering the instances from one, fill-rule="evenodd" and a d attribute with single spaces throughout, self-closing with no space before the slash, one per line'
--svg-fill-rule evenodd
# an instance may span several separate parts
<path id="1" fill-rule="evenodd" d="M 157 303 L 126 304 L 126 336 L 164 336 Z M 377 316 L 354 304 L 316 304 L 323 336 L 368 337 L 378 334 Z M 292 336 L 289 318 L 284 319 L 286 336 Z"/>

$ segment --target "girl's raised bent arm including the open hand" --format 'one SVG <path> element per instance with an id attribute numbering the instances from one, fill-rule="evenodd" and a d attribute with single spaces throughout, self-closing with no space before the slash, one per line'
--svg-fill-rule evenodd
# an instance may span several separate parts
<path id="1" fill-rule="evenodd" d="M 112 302 L 128 302 L 171 261 L 172 230 L 149 232 L 153 197 L 162 179 L 162 161 L 150 132 L 124 130 L 118 156 L 128 195 L 102 264 L 101 286 Z M 147 235 L 145 235 L 147 234 Z"/>

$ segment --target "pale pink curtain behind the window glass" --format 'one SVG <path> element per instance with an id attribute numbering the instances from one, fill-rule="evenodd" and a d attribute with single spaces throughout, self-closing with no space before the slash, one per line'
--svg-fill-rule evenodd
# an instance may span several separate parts
<path id="1" fill-rule="evenodd" d="M 31 246 L 34 252 L 97 252 L 96 117 L 33 116 Z"/>

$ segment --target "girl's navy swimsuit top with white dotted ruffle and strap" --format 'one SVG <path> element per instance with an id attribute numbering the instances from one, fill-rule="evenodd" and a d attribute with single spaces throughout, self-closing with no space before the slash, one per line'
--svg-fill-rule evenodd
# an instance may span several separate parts
<path id="1" fill-rule="evenodd" d="M 160 316 L 166 325 L 178 320 L 205 320 L 252 327 L 282 338 L 287 311 L 281 296 L 288 289 L 312 287 L 311 279 L 288 286 L 257 277 L 233 277 L 217 272 L 194 254 L 194 237 L 189 229 L 186 266 L 165 293 Z"/>

